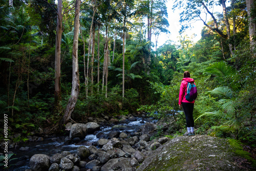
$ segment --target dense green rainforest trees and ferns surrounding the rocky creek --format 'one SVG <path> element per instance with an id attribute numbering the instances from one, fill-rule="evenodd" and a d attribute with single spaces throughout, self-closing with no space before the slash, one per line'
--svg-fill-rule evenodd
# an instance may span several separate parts
<path id="1" fill-rule="evenodd" d="M 155 138 L 179 137 L 189 71 L 196 135 L 234 140 L 255 159 L 256 2 L 169 1 L 180 11 L 179 41 L 162 36 L 172 35 L 166 0 L 0 0 L 1 142 L 138 114 L 169 125 Z M 198 41 L 186 34 L 195 21 L 204 25 Z"/>

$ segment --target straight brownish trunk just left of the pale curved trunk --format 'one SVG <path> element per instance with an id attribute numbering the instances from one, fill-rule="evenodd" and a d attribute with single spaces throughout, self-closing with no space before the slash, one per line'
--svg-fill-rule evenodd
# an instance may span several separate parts
<path id="1" fill-rule="evenodd" d="M 56 42 L 55 42 L 55 112 L 61 111 L 61 89 L 60 89 L 60 46 L 62 35 L 62 0 L 58 0 L 58 15 L 56 27 Z"/>

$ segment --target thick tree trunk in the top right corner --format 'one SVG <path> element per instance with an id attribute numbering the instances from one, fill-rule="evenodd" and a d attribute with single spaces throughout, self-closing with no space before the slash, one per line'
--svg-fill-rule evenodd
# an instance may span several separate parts
<path id="1" fill-rule="evenodd" d="M 254 9 L 254 1 L 253 0 L 246 0 L 246 7 L 247 7 L 247 15 L 249 17 L 249 36 L 250 36 L 250 46 L 251 49 L 254 50 L 255 47 L 255 40 L 253 39 L 256 32 L 256 24 L 253 22 L 254 17 L 251 14 L 252 9 Z"/>

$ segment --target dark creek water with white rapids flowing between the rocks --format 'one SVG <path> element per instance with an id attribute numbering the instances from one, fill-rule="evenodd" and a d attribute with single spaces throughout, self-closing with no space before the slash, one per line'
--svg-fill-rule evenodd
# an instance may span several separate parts
<path id="1" fill-rule="evenodd" d="M 156 120 L 150 121 L 152 123 L 155 123 Z M 125 130 L 126 133 L 134 133 L 141 125 L 144 125 L 146 123 L 146 118 L 137 118 L 136 121 L 130 121 L 124 124 L 118 124 L 118 125 L 124 125 L 127 127 Z M 97 131 L 95 133 L 97 134 L 104 134 L 105 137 L 112 131 L 113 125 L 106 125 L 100 127 L 100 131 Z M 118 130 L 117 130 L 118 131 Z M 122 132 L 119 130 L 119 132 Z M 30 169 L 29 167 L 29 159 L 34 155 L 34 154 L 46 154 L 48 156 L 53 156 L 56 153 L 61 153 L 63 151 L 69 151 L 71 153 L 76 153 L 76 150 L 79 146 L 86 146 L 89 147 L 91 146 L 94 142 L 98 141 L 99 138 L 97 138 L 96 135 L 90 134 L 87 135 L 83 140 L 81 140 L 78 143 L 72 142 L 71 144 L 66 144 L 65 141 L 65 136 L 55 136 L 55 137 L 50 137 L 50 138 L 45 138 L 44 141 L 41 142 L 29 142 L 29 143 L 24 143 L 20 144 L 20 147 L 22 146 L 29 146 L 30 150 L 29 151 L 19 151 L 19 150 L 14 150 L 10 149 L 13 153 L 16 155 L 12 156 L 12 158 L 18 158 L 16 160 L 13 160 L 9 163 L 14 164 L 11 166 L 10 169 L 8 170 L 14 170 L 14 171 L 24 171 L 25 169 Z M 28 156 L 28 159 L 26 160 L 20 160 L 20 158 L 24 158 L 25 156 Z"/>

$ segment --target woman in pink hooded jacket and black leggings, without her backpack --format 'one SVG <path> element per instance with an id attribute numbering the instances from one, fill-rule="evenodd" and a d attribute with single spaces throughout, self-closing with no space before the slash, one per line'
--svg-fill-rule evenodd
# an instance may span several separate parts
<path id="1" fill-rule="evenodd" d="M 179 95 L 179 106 L 181 108 L 181 104 L 186 116 L 186 125 L 187 125 L 187 132 L 183 134 L 184 136 L 187 135 L 195 135 L 194 132 L 194 118 L 193 118 L 193 110 L 194 110 L 194 101 L 187 101 L 186 96 L 186 89 L 187 89 L 187 83 L 194 83 L 194 79 L 190 78 L 190 73 L 188 71 L 185 71 L 183 74 L 183 79 L 180 84 L 180 95 Z"/>

